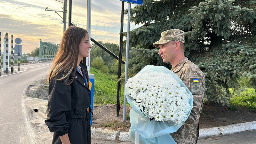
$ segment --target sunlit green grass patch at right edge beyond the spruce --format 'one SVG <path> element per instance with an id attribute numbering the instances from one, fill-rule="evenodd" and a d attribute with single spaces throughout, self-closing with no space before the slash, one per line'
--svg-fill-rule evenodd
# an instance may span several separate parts
<path id="1" fill-rule="evenodd" d="M 244 107 L 251 111 L 256 111 L 256 92 L 253 88 L 246 88 L 247 91 L 240 94 L 234 94 L 230 99 L 230 108 L 237 110 L 239 107 Z M 231 91 L 232 92 L 232 91 Z"/>

